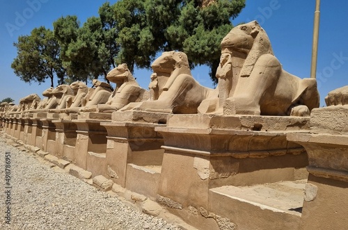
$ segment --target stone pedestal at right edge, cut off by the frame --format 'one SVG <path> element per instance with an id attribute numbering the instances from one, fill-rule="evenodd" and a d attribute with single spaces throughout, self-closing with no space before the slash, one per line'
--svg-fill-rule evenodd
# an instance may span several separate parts
<path id="1" fill-rule="evenodd" d="M 312 110 L 310 133 L 289 134 L 308 152 L 301 229 L 346 229 L 348 226 L 348 106 Z"/>

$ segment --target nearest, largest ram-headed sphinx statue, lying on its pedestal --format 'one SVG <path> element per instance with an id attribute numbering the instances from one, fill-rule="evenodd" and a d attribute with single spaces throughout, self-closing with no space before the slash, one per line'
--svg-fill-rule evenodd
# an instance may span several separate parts
<path id="1" fill-rule="evenodd" d="M 219 104 L 223 114 L 308 115 L 319 106 L 316 79 L 300 79 L 283 70 L 258 22 L 232 28 L 221 49 L 222 55 L 230 55 L 232 68 L 218 76 L 230 84 L 223 85 L 228 92 L 220 92 L 225 94 Z"/>

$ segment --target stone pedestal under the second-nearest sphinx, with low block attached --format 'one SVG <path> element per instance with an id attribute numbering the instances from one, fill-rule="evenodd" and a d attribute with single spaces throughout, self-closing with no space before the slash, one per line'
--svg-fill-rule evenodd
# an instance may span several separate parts
<path id="1" fill-rule="evenodd" d="M 107 175 L 120 186 L 155 199 L 164 150 L 155 127 L 165 126 L 166 113 L 113 112 L 108 132 Z M 161 124 L 159 124 L 161 123 Z"/>

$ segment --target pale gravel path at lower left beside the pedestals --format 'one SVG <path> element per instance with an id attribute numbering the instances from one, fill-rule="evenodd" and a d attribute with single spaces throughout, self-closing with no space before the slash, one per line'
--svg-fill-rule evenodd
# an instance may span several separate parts
<path id="1" fill-rule="evenodd" d="M 39 156 L 0 137 L 0 229 L 179 229 L 140 213 Z M 10 152 L 10 224 L 6 224 L 6 161 Z M 59 169 L 59 168 L 58 168 Z"/>

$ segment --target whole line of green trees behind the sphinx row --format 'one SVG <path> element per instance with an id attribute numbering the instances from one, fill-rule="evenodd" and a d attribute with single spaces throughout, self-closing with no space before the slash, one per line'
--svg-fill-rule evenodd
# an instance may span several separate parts
<path id="1" fill-rule="evenodd" d="M 148 68 L 160 51 L 184 51 L 191 68 L 209 65 L 215 72 L 220 42 L 232 28 L 245 0 L 120 0 L 104 3 L 99 17 L 82 24 L 77 16 L 60 17 L 54 30 L 34 28 L 15 43 L 12 67 L 23 81 L 58 83 L 106 77 L 111 67 L 127 63 Z"/>

